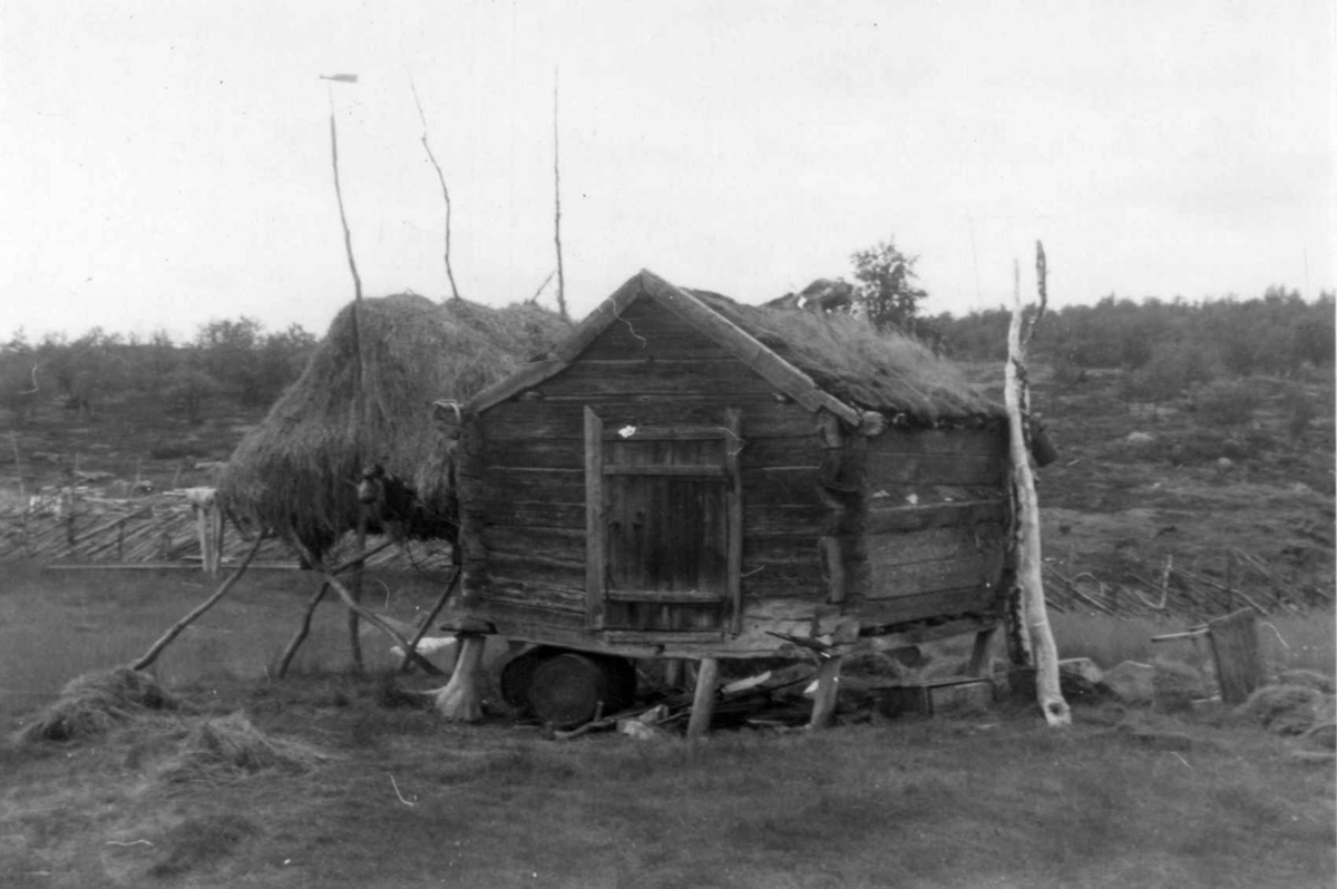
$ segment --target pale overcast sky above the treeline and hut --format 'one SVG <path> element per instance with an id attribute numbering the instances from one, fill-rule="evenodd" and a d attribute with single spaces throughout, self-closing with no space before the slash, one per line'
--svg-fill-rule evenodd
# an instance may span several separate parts
<path id="1" fill-rule="evenodd" d="M 365 293 L 493 305 L 648 267 L 746 302 L 894 237 L 931 311 L 1334 287 L 1334 25 L 1285 3 L 0 4 L 0 336 L 324 333 Z M 352 72 L 356 86 L 321 74 Z M 550 301 L 551 305 L 551 301 Z"/>

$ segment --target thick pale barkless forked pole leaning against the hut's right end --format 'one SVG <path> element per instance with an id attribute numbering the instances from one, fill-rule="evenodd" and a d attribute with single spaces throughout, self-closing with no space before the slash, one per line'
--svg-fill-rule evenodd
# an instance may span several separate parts
<path id="1" fill-rule="evenodd" d="M 1044 247 L 1036 243 L 1036 271 L 1040 278 L 1039 321 L 1044 311 Z M 1035 658 L 1035 690 L 1044 711 L 1044 719 L 1051 726 L 1068 726 L 1072 713 L 1059 688 L 1059 654 L 1050 630 L 1050 618 L 1044 607 L 1043 561 L 1040 560 L 1040 504 L 1035 495 L 1035 476 L 1031 473 L 1028 444 L 1027 406 L 1028 382 L 1025 368 L 1025 342 L 1034 333 L 1034 324 L 1023 337 L 1021 273 L 1013 267 L 1012 324 L 1008 326 L 1008 360 L 1004 370 L 1004 404 L 1008 416 L 1009 456 L 1012 464 L 1012 489 L 1016 505 L 1016 583 L 1021 591 L 1021 615 L 1024 632 Z"/>

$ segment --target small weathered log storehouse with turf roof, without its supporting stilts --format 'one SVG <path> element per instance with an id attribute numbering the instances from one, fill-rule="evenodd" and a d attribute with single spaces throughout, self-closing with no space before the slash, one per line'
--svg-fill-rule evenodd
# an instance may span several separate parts
<path id="1" fill-rule="evenodd" d="M 848 315 L 642 271 L 448 413 L 457 630 L 713 662 L 983 642 L 1004 618 L 1001 408 Z"/>

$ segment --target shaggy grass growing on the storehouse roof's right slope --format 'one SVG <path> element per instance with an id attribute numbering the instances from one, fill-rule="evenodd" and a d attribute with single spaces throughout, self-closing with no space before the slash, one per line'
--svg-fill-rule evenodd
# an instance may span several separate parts
<path id="1" fill-rule="evenodd" d="M 1001 416 L 956 365 L 904 334 L 878 333 L 848 314 L 766 309 L 701 290 L 693 294 L 818 386 L 862 408 L 925 422 Z"/>

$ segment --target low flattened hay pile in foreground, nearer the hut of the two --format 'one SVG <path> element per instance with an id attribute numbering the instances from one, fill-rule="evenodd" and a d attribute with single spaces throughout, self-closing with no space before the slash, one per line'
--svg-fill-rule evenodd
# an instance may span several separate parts
<path id="1" fill-rule="evenodd" d="M 251 725 L 243 713 L 197 723 L 158 773 L 174 783 L 222 782 L 258 771 L 305 774 L 329 755 L 302 743 L 271 738 Z"/>

